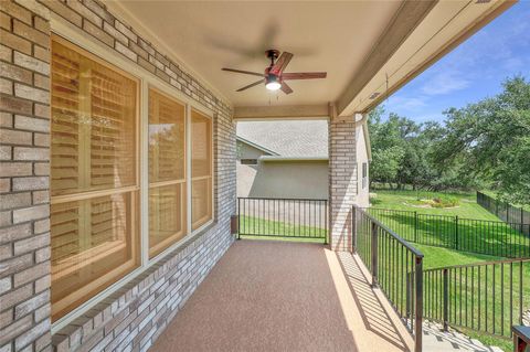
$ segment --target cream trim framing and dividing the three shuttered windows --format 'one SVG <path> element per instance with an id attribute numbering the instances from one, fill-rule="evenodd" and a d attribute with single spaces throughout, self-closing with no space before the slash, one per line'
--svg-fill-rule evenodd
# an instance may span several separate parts
<path id="1" fill-rule="evenodd" d="M 63 316 L 62 318 L 57 319 L 52 323 L 51 332 L 52 334 L 56 333 L 61 329 L 67 327 L 72 321 L 77 319 L 78 317 L 86 313 L 88 310 L 93 309 L 97 303 L 100 303 L 103 299 L 108 298 L 110 295 L 120 290 L 126 284 L 130 282 L 134 278 L 140 276 L 146 270 L 149 270 L 155 264 L 160 262 L 161 259 L 166 258 L 170 253 L 177 250 L 180 247 L 184 247 L 191 241 L 195 238 L 195 236 L 206 228 L 211 227 L 213 224 L 216 223 L 215 216 L 215 198 L 216 198 L 216 189 L 215 189 L 215 161 L 216 156 L 214 153 L 214 140 L 215 140 L 215 124 L 214 124 L 214 111 L 210 108 L 200 105 L 189 96 L 187 96 L 183 92 L 177 89 L 176 87 L 171 86 L 167 82 L 162 81 L 161 78 L 155 76 L 149 71 L 145 70 L 144 67 L 139 66 L 136 63 L 132 63 L 121 55 L 119 55 L 113 47 L 109 47 L 96 39 L 86 35 L 85 32 L 80 30 L 78 28 L 74 26 L 73 24 L 68 23 L 65 19 L 61 18 L 55 13 L 51 13 L 51 33 L 56 38 L 65 40 L 83 50 L 88 52 L 91 55 L 94 55 L 98 60 L 112 63 L 113 66 L 120 68 L 121 71 L 126 71 L 129 76 L 132 76 L 135 79 L 138 79 L 138 107 L 137 107 L 137 118 L 138 124 L 137 128 L 139 132 L 137 134 L 137 185 L 138 185 L 138 199 L 139 204 L 137 206 L 138 213 L 138 236 L 139 236 L 139 245 L 140 245 L 140 265 L 132 271 L 125 275 L 123 278 L 117 280 L 116 282 L 109 285 L 107 288 L 102 290 L 100 292 L 93 296 L 91 299 L 86 300 L 84 303 L 80 305 L 78 307 L 74 308 L 67 314 Z M 201 114 L 205 115 L 212 120 L 212 218 L 201 225 L 199 228 L 191 231 L 191 211 L 187 211 L 187 235 L 181 238 L 179 242 L 172 244 L 151 259 L 149 259 L 149 222 L 148 222 L 148 190 L 149 190 L 149 151 L 148 151 L 148 124 L 149 124 L 149 106 L 148 106 L 148 98 L 149 98 L 149 87 L 153 87 L 166 95 L 170 96 L 173 99 L 177 99 L 186 105 L 186 116 L 187 116 L 187 126 L 190 126 L 191 122 L 191 109 L 195 109 Z M 187 127 L 187 148 L 188 150 L 191 146 L 188 143 L 191 142 L 191 128 Z M 187 182 L 187 206 L 188 210 L 191 210 L 191 157 L 187 158 L 187 177 L 189 178 L 190 182 Z M 93 191 L 99 192 L 99 191 Z M 88 193 L 88 192 L 87 192 Z M 147 221 L 146 221 L 147 220 Z"/>

